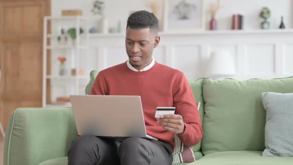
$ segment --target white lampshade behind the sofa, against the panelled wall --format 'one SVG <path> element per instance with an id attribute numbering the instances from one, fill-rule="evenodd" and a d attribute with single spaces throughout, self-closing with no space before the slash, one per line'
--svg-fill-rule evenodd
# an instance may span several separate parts
<path id="1" fill-rule="evenodd" d="M 235 74 L 235 65 L 229 52 L 218 51 L 211 54 L 206 68 L 207 77 L 222 80 L 224 78 L 231 78 Z"/>

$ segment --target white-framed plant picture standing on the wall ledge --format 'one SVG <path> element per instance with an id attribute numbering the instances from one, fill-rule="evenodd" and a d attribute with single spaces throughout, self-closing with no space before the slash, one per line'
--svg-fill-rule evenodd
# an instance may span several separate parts
<path id="1" fill-rule="evenodd" d="M 165 32 L 205 30 L 204 0 L 165 0 Z"/>

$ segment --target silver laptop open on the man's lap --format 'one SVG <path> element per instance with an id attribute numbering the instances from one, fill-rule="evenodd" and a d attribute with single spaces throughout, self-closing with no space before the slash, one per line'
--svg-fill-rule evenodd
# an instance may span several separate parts
<path id="1" fill-rule="evenodd" d="M 143 137 L 147 135 L 141 96 L 71 95 L 78 135 Z"/>

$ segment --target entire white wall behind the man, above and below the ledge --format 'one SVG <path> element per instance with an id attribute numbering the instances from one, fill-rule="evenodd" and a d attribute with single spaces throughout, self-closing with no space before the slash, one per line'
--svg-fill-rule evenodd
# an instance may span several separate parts
<path id="1" fill-rule="evenodd" d="M 94 17 L 90 12 L 93 0 L 52 0 L 52 15 L 60 16 L 62 9 L 79 8 L 83 16 Z M 131 10 L 147 9 L 144 0 L 105 0 L 105 14 L 109 27 L 116 26 L 119 19 L 124 22 Z M 205 0 L 206 6 L 216 0 Z M 293 28 L 293 0 L 221 0 L 224 8 L 217 15 L 220 30 L 230 29 L 231 15 L 241 13 L 245 16 L 246 31 L 161 33 L 159 47 L 154 50 L 157 62 L 184 72 L 189 80 L 206 77 L 207 61 L 213 51 L 230 52 L 236 68 L 234 78 L 246 80 L 250 78 L 272 79 L 293 76 L 293 29 L 292 30 L 252 30 L 259 29 L 259 11 L 263 6 L 271 9 L 271 27 L 277 28 L 280 16 L 285 17 L 287 28 Z M 97 18 L 97 17 L 95 17 Z M 209 16 L 206 15 L 209 19 Z M 208 20 L 206 21 L 208 22 Z M 94 23 L 94 22 L 91 22 Z M 60 30 L 60 29 L 59 29 Z M 56 38 L 52 38 L 52 43 Z M 89 58 L 80 61 L 80 67 L 91 70 L 103 70 L 110 66 L 125 62 L 125 34 L 91 34 L 89 35 L 88 53 L 81 52 Z M 63 53 L 59 51 L 59 54 Z M 57 57 L 56 51 L 55 56 Z M 63 53 L 64 54 L 64 53 Z M 70 55 L 70 53 L 69 53 Z M 54 58 L 56 59 L 56 58 Z M 53 67 L 58 69 L 56 67 Z M 55 72 L 53 72 L 55 73 Z M 54 76 L 54 75 L 53 75 Z M 80 80 L 78 94 L 83 94 L 88 83 L 88 76 Z M 74 93 L 73 79 L 52 79 L 52 101 L 58 95 Z"/>

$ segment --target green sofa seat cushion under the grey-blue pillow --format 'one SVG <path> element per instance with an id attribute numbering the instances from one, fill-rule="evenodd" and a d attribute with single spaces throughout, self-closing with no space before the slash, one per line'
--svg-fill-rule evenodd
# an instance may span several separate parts
<path id="1" fill-rule="evenodd" d="M 225 151 L 208 154 L 187 165 L 292 165 L 293 157 L 263 157 L 262 151 Z"/>

